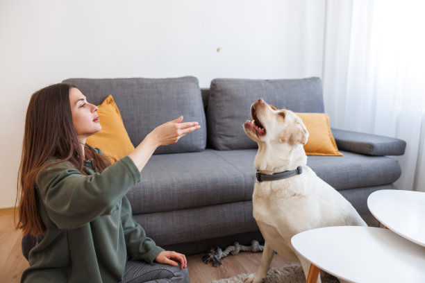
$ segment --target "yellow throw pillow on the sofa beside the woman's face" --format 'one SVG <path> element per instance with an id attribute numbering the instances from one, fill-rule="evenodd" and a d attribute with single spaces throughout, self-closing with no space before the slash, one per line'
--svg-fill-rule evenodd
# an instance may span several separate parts
<path id="1" fill-rule="evenodd" d="M 128 137 L 113 96 L 110 95 L 105 98 L 98 107 L 97 114 L 99 115 L 102 130 L 88 137 L 85 142 L 90 144 L 90 146 L 100 148 L 109 157 L 110 162 L 115 163 L 134 151 L 134 146 L 130 137 Z"/>

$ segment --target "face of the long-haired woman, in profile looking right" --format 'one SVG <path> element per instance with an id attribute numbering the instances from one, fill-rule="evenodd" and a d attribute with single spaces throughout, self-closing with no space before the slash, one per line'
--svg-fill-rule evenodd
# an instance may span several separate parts
<path id="1" fill-rule="evenodd" d="M 84 141 L 102 129 L 97 106 L 88 103 L 85 96 L 75 87 L 69 89 L 69 102 L 71 103 L 72 123 L 78 140 Z"/>

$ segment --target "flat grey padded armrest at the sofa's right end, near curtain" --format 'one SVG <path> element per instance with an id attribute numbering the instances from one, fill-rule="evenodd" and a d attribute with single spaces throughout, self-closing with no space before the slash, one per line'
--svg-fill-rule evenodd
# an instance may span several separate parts
<path id="1" fill-rule="evenodd" d="M 366 155 L 403 155 L 406 141 L 392 137 L 331 129 L 338 149 Z"/>

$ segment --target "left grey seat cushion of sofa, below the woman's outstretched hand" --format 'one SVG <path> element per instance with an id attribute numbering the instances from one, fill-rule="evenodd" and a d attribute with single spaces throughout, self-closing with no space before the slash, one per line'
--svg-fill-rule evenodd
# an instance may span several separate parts
<path id="1" fill-rule="evenodd" d="M 127 193 L 133 214 L 165 212 L 244 200 L 243 174 L 207 149 L 153 155 Z"/>

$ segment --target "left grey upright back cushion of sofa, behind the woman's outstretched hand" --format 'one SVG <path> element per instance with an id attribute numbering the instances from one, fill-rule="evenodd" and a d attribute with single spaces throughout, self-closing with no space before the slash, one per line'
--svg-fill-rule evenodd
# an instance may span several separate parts
<path id="1" fill-rule="evenodd" d="M 206 147 L 206 117 L 197 78 L 70 78 L 63 83 L 76 85 L 96 105 L 112 94 L 134 146 L 157 126 L 183 115 L 183 122 L 198 121 L 201 128 L 155 153 L 203 151 Z"/>

